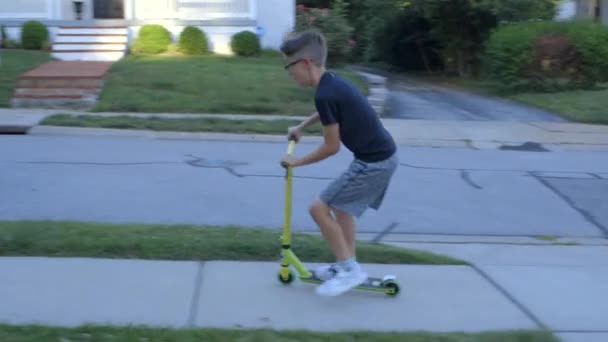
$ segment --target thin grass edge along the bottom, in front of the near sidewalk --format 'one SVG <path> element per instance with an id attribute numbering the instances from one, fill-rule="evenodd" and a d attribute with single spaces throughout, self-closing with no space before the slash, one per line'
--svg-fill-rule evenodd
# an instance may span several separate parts
<path id="1" fill-rule="evenodd" d="M 158 329 L 147 327 L 50 328 L 0 325 L 0 341 L 11 342 L 558 342 L 545 332 L 380 333 L 272 331 L 266 329 Z"/>

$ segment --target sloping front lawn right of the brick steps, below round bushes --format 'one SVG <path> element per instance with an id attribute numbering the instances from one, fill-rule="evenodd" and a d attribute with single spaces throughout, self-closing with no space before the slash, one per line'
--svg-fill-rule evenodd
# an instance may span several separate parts
<path id="1" fill-rule="evenodd" d="M 276 54 L 126 56 L 106 78 L 94 111 L 309 115 L 314 90 L 299 87 Z M 354 72 L 335 70 L 367 92 Z"/>

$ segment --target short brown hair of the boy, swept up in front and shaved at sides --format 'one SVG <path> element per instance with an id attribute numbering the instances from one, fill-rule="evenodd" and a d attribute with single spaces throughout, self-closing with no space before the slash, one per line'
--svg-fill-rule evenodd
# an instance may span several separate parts
<path id="1" fill-rule="evenodd" d="M 310 58 L 317 66 L 324 67 L 327 61 L 327 42 L 322 33 L 309 30 L 287 38 L 281 45 L 287 57 Z"/>

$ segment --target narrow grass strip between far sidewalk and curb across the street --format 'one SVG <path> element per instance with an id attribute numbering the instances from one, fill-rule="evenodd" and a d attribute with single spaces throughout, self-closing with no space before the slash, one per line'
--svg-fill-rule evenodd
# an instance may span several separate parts
<path id="1" fill-rule="evenodd" d="M 141 129 L 173 132 L 222 132 L 250 134 L 287 134 L 290 126 L 300 120 L 230 120 L 222 118 L 135 118 L 129 116 L 96 116 L 58 114 L 45 118 L 40 123 L 47 126 L 101 127 Z M 315 124 L 306 130 L 308 135 L 321 135 L 321 125 Z"/>

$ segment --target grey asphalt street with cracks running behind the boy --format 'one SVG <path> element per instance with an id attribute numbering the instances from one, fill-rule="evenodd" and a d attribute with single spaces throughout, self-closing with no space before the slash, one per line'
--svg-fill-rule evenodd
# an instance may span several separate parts
<path id="1" fill-rule="evenodd" d="M 297 153 L 317 145 L 303 143 Z M 280 227 L 285 142 L 0 136 L 0 219 Z M 605 237 L 603 152 L 402 147 L 370 233 Z M 308 205 L 350 161 L 343 150 L 296 169 L 294 229 L 317 231 Z M 236 195 L 235 195 L 236 194 Z M 394 224 L 396 223 L 396 224 Z"/>

